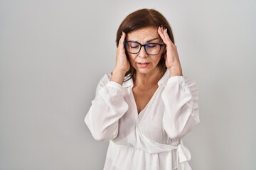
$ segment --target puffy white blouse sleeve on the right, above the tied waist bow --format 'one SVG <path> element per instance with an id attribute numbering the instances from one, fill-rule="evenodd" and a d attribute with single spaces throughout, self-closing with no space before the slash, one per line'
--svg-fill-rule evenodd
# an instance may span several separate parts
<path id="1" fill-rule="evenodd" d="M 163 91 L 164 130 L 172 139 L 181 139 L 199 123 L 198 85 L 192 79 L 171 77 Z"/>

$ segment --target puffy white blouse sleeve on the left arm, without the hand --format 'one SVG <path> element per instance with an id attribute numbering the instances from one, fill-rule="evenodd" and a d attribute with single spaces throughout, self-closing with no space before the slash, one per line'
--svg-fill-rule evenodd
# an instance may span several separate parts
<path id="1" fill-rule="evenodd" d="M 97 86 L 95 99 L 85 116 L 95 140 L 112 140 L 118 134 L 118 121 L 128 110 L 120 84 L 105 75 Z"/>

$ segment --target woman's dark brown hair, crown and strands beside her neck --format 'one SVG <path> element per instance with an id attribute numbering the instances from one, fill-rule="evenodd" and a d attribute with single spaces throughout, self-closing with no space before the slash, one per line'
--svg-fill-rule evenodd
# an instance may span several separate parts
<path id="1" fill-rule="evenodd" d="M 163 28 L 167 28 L 169 38 L 174 43 L 174 35 L 171 31 L 171 26 L 169 22 L 166 20 L 166 18 L 161 13 L 159 13 L 159 11 L 156 11 L 154 9 L 143 8 L 134 11 L 133 13 L 130 13 L 126 18 L 124 18 L 124 21 L 122 21 L 117 30 L 117 47 L 119 40 L 122 36 L 122 31 L 124 31 L 124 33 L 127 34 L 134 30 L 138 30 L 140 28 L 145 28 L 149 26 L 154 26 L 156 28 L 162 26 Z M 161 56 L 161 60 L 159 61 L 158 67 L 161 69 L 162 72 L 166 71 L 164 55 Z M 125 74 L 124 81 L 131 79 L 134 76 L 134 73 L 135 69 L 131 66 L 129 71 Z"/>

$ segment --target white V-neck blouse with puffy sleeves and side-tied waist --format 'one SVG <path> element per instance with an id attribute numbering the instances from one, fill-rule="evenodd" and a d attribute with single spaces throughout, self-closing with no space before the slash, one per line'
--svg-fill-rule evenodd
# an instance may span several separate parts
<path id="1" fill-rule="evenodd" d="M 195 81 L 166 72 L 138 115 L 132 79 L 121 86 L 110 77 L 100 80 L 85 117 L 95 140 L 110 140 L 104 170 L 191 170 L 181 137 L 199 123 Z"/>

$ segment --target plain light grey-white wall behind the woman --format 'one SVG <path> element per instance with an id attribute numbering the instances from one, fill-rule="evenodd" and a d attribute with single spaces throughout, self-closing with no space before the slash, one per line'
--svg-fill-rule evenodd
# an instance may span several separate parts
<path id="1" fill-rule="evenodd" d="M 185 138 L 193 170 L 256 169 L 256 1 L 0 0 L 0 169 L 102 169 L 107 142 L 83 122 L 112 72 L 125 16 L 171 23 L 201 123 Z"/>

